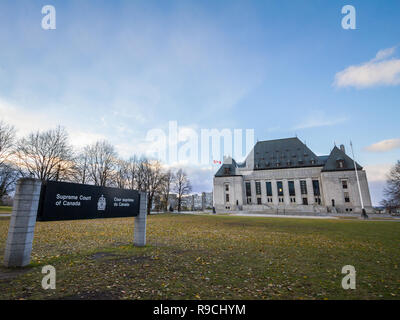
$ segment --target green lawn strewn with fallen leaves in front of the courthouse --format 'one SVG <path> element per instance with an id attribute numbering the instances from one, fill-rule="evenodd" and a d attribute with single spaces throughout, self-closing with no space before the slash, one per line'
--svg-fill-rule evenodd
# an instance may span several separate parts
<path id="1" fill-rule="evenodd" d="M 0 218 L 0 259 L 9 219 Z M 399 299 L 400 223 L 158 215 L 39 222 L 32 264 L 0 268 L 0 299 Z M 41 268 L 57 289 L 41 288 Z M 344 265 L 357 271 L 344 290 Z"/>

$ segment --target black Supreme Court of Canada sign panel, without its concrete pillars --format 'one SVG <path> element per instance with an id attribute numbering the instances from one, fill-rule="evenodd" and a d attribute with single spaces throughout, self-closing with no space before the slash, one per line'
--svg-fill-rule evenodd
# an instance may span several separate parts
<path id="1" fill-rule="evenodd" d="M 39 221 L 135 217 L 139 192 L 47 181 L 40 196 Z"/>

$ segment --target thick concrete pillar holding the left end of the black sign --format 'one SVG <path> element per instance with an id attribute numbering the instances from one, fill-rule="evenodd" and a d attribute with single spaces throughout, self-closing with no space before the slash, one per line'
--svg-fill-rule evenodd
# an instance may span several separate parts
<path id="1" fill-rule="evenodd" d="M 24 267 L 31 261 L 41 186 L 40 180 L 31 178 L 17 182 L 4 253 L 6 267 Z"/>

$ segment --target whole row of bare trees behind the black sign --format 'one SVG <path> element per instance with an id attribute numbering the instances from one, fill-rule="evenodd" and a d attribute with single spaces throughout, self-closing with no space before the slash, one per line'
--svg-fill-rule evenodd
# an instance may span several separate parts
<path id="1" fill-rule="evenodd" d="M 156 198 L 167 211 L 171 192 L 176 192 L 181 211 L 183 196 L 192 190 L 182 169 L 167 170 L 160 161 L 146 157 L 122 159 L 106 140 L 76 150 L 63 127 L 17 139 L 15 128 L 0 121 L 0 201 L 12 194 L 22 177 L 146 192 L 148 214 Z"/>

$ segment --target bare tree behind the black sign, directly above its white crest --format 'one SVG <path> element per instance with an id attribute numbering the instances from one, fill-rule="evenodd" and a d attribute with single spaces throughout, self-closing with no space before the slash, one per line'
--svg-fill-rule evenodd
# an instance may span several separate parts
<path id="1" fill-rule="evenodd" d="M 88 177 L 96 186 L 113 185 L 117 154 L 107 141 L 98 141 L 84 149 Z"/>

